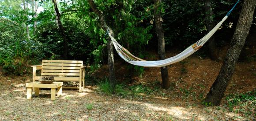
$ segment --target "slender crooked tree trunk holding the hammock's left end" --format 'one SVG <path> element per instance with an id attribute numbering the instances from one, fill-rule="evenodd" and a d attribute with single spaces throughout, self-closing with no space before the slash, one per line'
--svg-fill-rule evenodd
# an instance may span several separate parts
<path id="1" fill-rule="evenodd" d="M 91 9 L 99 16 L 99 22 L 105 31 L 109 31 L 112 37 L 114 37 L 113 30 L 107 26 L 103 12 L 98 10 L 98 8 L 95 6 L 93 0 L 88 0 Z M 113 51 L 113 43 L 111 39 L 108 40 L 108 64 L 109 64 L 109 83 L 111 85 L 111 88 L 114 88 L 116 85 L 116 76 L 115 76 L 115 68 L 114 68 L 114 51 Z"/>

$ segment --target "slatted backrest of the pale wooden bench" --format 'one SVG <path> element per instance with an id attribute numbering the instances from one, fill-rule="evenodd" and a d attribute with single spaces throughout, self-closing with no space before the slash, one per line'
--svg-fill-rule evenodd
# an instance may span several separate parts
<path id="1" fill-rule="evenodd" d="M 42 60 L 42 76 L 79 77 L 83 61 L 73 60 Z"/>

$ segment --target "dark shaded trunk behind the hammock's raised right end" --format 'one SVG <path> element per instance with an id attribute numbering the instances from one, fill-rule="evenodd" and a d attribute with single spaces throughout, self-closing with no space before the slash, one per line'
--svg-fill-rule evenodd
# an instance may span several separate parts
<path id="1" fill-rule="evenodd" d="M 214 22 L 213 22 L 213 12 L 212 12 L 212 7 L 211 7 L 211 0 L 205 0 L 204 8 L 205 8 L 205 15 L 206 15 L 206 20 L 205 20 L 206 23 L 205 24 L 207 26 L 207 32 L 210 32 L 211 29 L 213 29 L 215 27 Z M 215 39 L 213 36 L 208 40 L 208 48 L 209 48 L 211 60 L 218 59 L 218 49 L 217 49 Z"/>

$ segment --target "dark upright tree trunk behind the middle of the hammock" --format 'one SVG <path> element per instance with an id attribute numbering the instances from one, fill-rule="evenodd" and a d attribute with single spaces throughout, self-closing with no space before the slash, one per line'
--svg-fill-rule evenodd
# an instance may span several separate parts
<path id="1" fill-rule="evenodd" d="M 155 8 L 154 8 L 154 21 L 155 21 L 155 29 L 156 35 L 158 38 L 158 55 L 160 60 L 166 59 L 166 51 L 165 51 L 165 37 L 162 28 L 162 17 L 161 17 L 161 0 L 154 0 Z M 170 87 L 168 68 L 167 66 L 161 67 L 161 76 L 162 76 L 162 88 L 168 89 Z"/>

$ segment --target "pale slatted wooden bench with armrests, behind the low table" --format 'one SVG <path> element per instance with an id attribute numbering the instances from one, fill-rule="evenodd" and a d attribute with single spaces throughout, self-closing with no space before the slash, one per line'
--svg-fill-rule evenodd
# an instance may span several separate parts
<path id="1" fill-rule="evenodd" d="M 63 87 L 63 88 L 79 88 L 82 92 L 84 88 L 84 69 L 83 61 L 75 60 L 42 60 L 42 65 L 33 67 L 33 82 L 41 77 L 54 76 L 55 81 L 78 81 L 79 87 Z M 41 70 L 41 76 L 36 76 L 36 70 Z M 82 87 L 83 81 L 83 87 Z M 34 88 L 33 88 L 34 92 Z"/>

